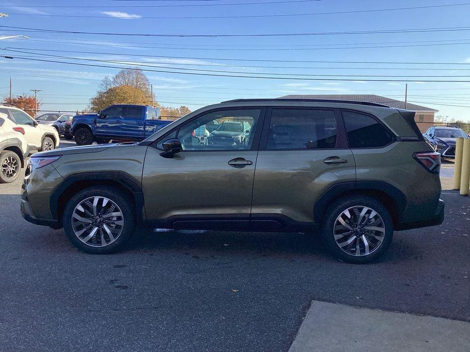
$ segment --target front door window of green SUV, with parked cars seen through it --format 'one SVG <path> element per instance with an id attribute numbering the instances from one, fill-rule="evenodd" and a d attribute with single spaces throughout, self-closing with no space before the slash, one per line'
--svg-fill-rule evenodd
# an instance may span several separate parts
<path id="1" fill-rule="evenodd" d="M 178 138 L 184 150 L 247 150 L 253 143 L 260 109 L 225 110 L 208 113 L 183 125 Z M 243 123 L 249 128 L 243 131 Z M 223 125 L 236 128 L 211 129 L 208 126 Z M 197 133 L 204 126 L 207 133 Z"/>

